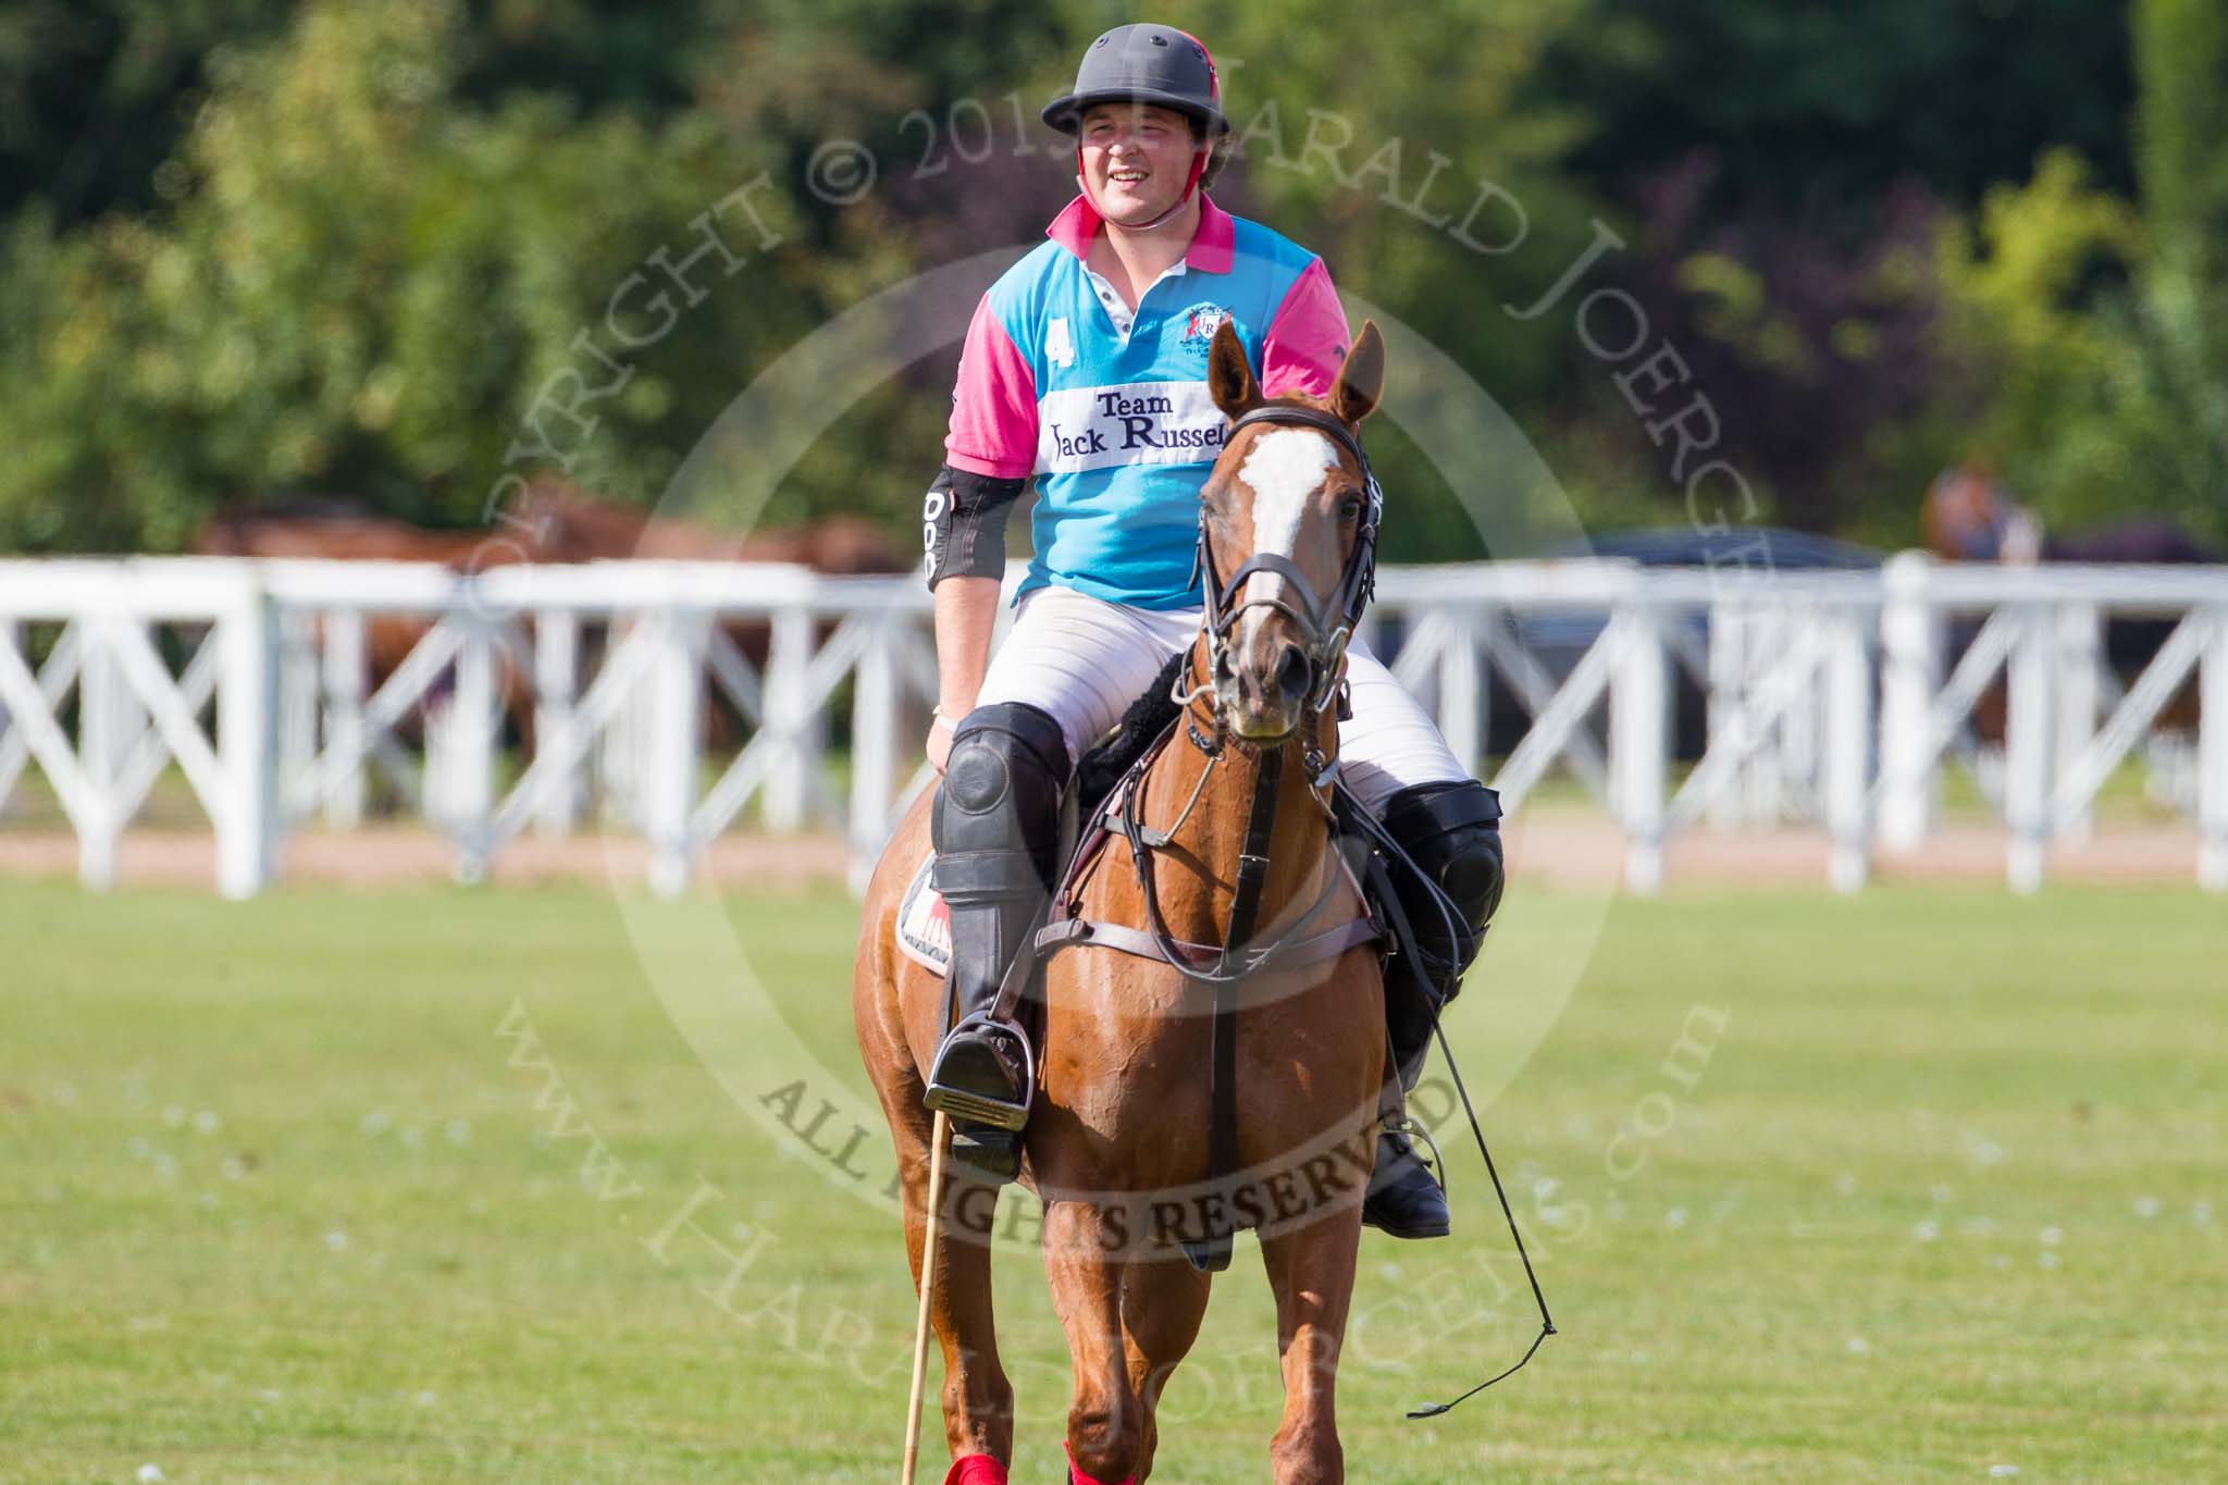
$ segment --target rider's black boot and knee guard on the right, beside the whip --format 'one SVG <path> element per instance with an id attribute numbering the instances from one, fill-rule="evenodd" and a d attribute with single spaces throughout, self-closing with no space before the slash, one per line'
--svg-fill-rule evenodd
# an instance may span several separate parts
<path id="1" fill-rule="evenodd" d="M 1499 817 L 1495 793 L 1475 781 L 1419 784 L 1386 801 L 1386 830 L 1417 866 L 1388 862 L 1415 937 L 1410 953 L 1386 962 L 1386 1037 L 1401 1093 L 1424 1073 L 1433 1022 L 1462 989 L 1486 919 L 1502 902 Z M 1395 1238 L 1448 1233 L 1446 1189 L 1399 1129 L 1377 1135 L 1377 1171 L 1361 1220 Z"/>

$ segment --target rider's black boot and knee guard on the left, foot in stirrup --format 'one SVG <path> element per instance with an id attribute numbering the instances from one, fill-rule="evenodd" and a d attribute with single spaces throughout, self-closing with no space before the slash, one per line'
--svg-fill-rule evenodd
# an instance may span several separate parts
<path id="1" fill-rule="evenodd" d="M 994 1180 L 1020 1171 L 1020 1127 L 1036 1091 L 1020 986 L 1005 980 L 1052 893 L 1065 779 L 1067 741 L 1052 717 L 1020 704 L 978 706 L 951 737 L 929 822 L 936 891 L 951 913 L 956 1024 L 929 1071 L 927 1104 L 951 1115 L 951 1158 Z"/>

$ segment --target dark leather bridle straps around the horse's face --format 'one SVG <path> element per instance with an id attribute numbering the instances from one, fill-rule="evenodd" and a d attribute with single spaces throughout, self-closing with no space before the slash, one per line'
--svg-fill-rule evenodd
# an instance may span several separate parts
<path id="1" fill-rule="evenodd" d="M 1339 574 L 1339 588 L 1326 601 L 1315 590 L 1315 583 L 1308 581 L 1308 574 L 1299 570 L 1299 563 L 1279 552 L 1254 552 L 1225 581 L 1214 570 L 1214 543 L 1208 541 L 1208 510 L 1201 503 L 1199 557 L 1192 566 L 1192 581 L 1201 583 L 1205 603 L 1208 684 L 1214 684 L 1223 646 L 1230 643 L 1230 630 L 1237 626 L 1239 614 L 1248 608 L 1274 608 L 1290 617 L 1301 635 L 1308 637 L 1303 648 L 1308 659 L 1308 708 L 1321 712 L 1339 695 L 1339 681 L 1346 672 L 1346 641 L 1352 639 L 1355 626 L 1361 623 L 1361 610 L 1368 608 L 1370 594 L 1377 592 L 1377 523 L 1384 519 L 1384 492 L 1377 488 L 1377 476 L 1370 474 L 1370 456 L 1361 452 L 1361 439 L 1355 436 L 1355 430 L 1315 407 L 1263 403 L 1230 425 L 1225 448 L 1228 439 L 1234 439 L 1241 427 L 1263 423 L 1315 427 L 1330 434 L 1332 443 L 1355 456 L 1355 463 L 1361 468 L 1366 499 L 1361 530 L 1355 534 L 1355 552 L 1346 559 L 1346 570 Z M 1254 572 L 1281 577 L 1288 597 L 1241 599 L 1239 594 Z"/>

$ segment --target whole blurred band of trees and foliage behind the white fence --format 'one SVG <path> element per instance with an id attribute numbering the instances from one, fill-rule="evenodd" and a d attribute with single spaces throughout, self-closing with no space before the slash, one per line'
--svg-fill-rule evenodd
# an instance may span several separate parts
<path id="1" fill-rule="evenodd" d="M 1179 20 L 1214 47 L 1243 142 L 1223 205 L 1444 350 L 1593 523 L 1684 519 L 1680 485 L 1571 314 L 1508 307 L 1606 223 L 1626 247 L 1593 281 L 1691 363 L 1771 519 L 1905 539 L 1914 481 L 1978 443 L 2059 523 L 2150 505 L 2224 532 L 2228 11 L 2132 16 L 2132 45 L 2128 11 L 2088 0 L 1457 0 L 1366 22 L 1205 0 Z M 477 523 L 506 472 L 553 463 L 657 499 L 811 330 L 1036 238 L 1067 191 L 1036 102 L 1130 18 L 1101 0 L 7 7 L 0 550 L 178 548 L 214 505 L 287 492 Z M 996 147 L 931 169 L 976 105 Z M 880 160 L 858 203 L 804 185 L 831 138 Z M 746 274 L 617 345 L 628 276 L 686 254 L 693 218 L 760 171 L 780 243 L 729 223 Z M 1974 216 L 1929 252 L 1941 203 Z M 521 427 L 568 374 L 624 390 L 535 454 Z M 778 481 L 724 452 L 700 508 L 758 517 L 771 483 L 769 521 L 909 525 L 949 374 L 951 350 L 862 372 L 876 385 L 847 387 Z M 1386 419 L 1372 452 L 1401 496 L 1393 559 L 1475 554 L 1464 501 L 1517 499 L 1495 448 L 1433 465 Z"/>

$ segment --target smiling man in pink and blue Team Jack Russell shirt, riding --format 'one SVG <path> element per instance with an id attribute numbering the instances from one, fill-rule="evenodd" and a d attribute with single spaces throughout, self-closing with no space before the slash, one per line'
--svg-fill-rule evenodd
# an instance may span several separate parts
<path id="1" fill-rule="evenodd" d="M 1348 350 L 1323 260 L 1205 196 L 1230 122 L 1196 38 L 1107 31 L 1043 118 L 1076 138 L 1081 194 L 976 307 L 925 508 L 934 879 L 951 913 L 956 1011 L 927 1102 L 954 1120 L 954 1158 L 991 1180 L 1018 1173 L 1034 1093 L 1007 980 L 1052 891 L 1061 790 L 1199 630 L 1199 488 L 1225 436 L 1208 392 L 1214 332 L 1234 325 L 1266 396 L 1328 394 Z M 1032 476 L 1034 561 L 991 661 L 1005 521 Z M 1346 679 L 1341 777 L 1430 877 L 1397 882 L 1419 953 L 1386 966 L 1393 1062 L 1413 1086 L 1433 1013 L 1502 895 L 1499 804 L 1359 641 Z M 1448 1231 L 1439 1182 L 1393 1127 L 1364 1220 L 1401 1238 Z"/>

